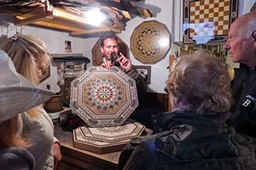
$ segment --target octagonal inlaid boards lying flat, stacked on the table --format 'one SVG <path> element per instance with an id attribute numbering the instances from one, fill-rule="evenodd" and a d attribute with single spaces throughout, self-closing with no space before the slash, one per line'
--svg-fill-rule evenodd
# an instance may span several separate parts
<path id="1" fill-rule="evenodd" d="M 139 137 L 144 128 L 144 125 L 132 120 L 116 127 L 76 128 L 73 131 L 74 146 L 98 154 L 122 150 L 132 138 Z"/>

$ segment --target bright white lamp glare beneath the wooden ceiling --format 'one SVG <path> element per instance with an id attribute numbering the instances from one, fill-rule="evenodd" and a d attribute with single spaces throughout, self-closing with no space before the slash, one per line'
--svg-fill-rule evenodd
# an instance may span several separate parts
<path id="1" fill-rule="evenodd" d="M 105 15 L 99 9 L 91 9 L 85 16 L 88 22 L 95 26 L 102 24 L 102 21 L 105 20 Z"/>

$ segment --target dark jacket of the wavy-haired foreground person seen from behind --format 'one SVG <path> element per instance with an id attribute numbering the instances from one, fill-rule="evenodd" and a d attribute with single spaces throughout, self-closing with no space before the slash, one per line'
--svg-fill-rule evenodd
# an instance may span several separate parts
<path id="1" fill-rule="evenodd" d="M 154 123 L 160 132 L 132 139 L 117 169 L 255 170 L 255 140 L 237 134 L 224 121 L 222 114 L 158 114 Z"/>

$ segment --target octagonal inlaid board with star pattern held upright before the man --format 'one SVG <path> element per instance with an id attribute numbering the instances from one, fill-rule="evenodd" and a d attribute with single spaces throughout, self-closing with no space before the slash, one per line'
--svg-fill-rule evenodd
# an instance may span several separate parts
<path id="1" fill-rule="evenodd" d="M 135 81 L 118 67 L 91 67 L 71 89 L 72 111 L 91 127 L 122 125 L 139 105 Z"/>

